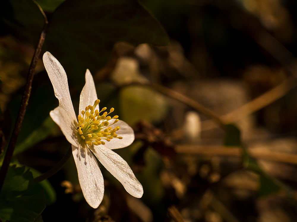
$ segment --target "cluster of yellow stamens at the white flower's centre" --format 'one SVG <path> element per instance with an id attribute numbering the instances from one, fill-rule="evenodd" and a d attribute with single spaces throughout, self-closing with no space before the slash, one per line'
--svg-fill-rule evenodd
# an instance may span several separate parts
<path id="1" fill-rule="evenodd" d="M 111 127 L 119 121 L 119 116 L 117 115 L 113 118 L 108 116 L 114 111 L 114 108 L 111 108 L 109 113 L 104 112 L 100 115 L 101 112 L 106 110 L 106 107 L 104 107 L 100 112 L 98 110 L 94 110 L 99 102 L 99 99 L 95 100 L 93 106 L 87 106 L 85 111 L 82 110 L 81 115 L 78 115 L 78 140 L 79 142 L 85 142 L 90 146 L 92 144 L 104 145 L 105 142 L 102 140 L 109 142 L 113 138 L 123 139 L 123 137 L 116 135 L 116 131 L 118 131 L 120 127 Z M 111 119 L 115 119 L 113 123 L 109 122 Z"/>

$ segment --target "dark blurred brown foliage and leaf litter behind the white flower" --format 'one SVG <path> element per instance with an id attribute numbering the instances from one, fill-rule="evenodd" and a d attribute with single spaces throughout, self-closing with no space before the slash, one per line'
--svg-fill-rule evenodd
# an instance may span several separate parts
<path id="1" fill-rule="evenodd" d="M 100 106 L 114 107 L 133 127 L 135 142 L 116 152 L 144 194 L 130 196 L 101 167 L 105 195 L 91 208 L 72 157 L 48 180 L 31 184 L 28 167 L 35 178 L 69 149 L 49 117 L 58 101 L 40 59 L 12 161 L 19 167 L 9 171 L 10 181 L 18 176 L 26 186 L 0 194 L 0 208 L 13 207 L 14 199 L 3 198 L 20 194 L 42 202 L 44 192 L 42 219 L 34 219 L 36 211 L 33 221 L 297 221 L 296 1 L 37 3 L 50 22 L 42 52 L 65 68 L 76 113 L 89 68 Z M 2 0 L 0 18 L 3 154 L 44 20 L 30 0 Z"/>

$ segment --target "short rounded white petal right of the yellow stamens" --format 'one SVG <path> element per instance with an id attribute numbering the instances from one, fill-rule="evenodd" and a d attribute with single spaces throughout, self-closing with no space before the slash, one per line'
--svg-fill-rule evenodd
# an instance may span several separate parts
<path id="1" fill-rule="evenodd" d="M 110 120 L 110 123 L 113 123 L 114 119 Z M 134 131 L 133 129 L 124 121 L 119 120 L 117 123 L 113 125 L 113 128 L 119 126 L 120 129 L 116 131 L 116 134 L 118 136 L 123 137 L 123 139 L 117 139 L 113 138 L 109 142 L 105 142 L 105 145 L 99 145 L 104 146 L 108 149 L 119 149 L 123 147 L 127 147 L 134 141 Z"/>

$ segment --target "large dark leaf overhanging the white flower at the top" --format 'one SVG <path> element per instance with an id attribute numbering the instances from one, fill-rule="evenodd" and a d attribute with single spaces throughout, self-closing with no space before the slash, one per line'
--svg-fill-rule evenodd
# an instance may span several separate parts
<path id="1" fill-rule="evenodd" d="M 64 1 L 53 12 L 44 49 L 63 65 L 68 77 L 104 67 L 113 45 L 168 45 L 169 38 L 137 0 Z"/>

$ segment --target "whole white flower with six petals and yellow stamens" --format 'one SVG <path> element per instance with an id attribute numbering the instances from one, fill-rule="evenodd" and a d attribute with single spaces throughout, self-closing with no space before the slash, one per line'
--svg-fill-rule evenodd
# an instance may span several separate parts
<path id="1" fill-rule="evenodd" d="M 91 207 L 97 208 L 104 194 L 103 176 L 94 155 L 129 194 L 142 197 L 143 188 L 131 168 L 111 150 L 130 145 L 134 141 L 134 132 L 127 123 L 118 120 L 118 116 L 108 116 L 113 108 L 109 113 L 104 112 L 106 107 L 99 111 L 100 101 L 90 71 L 86 71 L 86 84 L 80 93 L 81 115 L 76 118 L 64 68 L 49 52 L 43 55 L 43 63 L 59 100 L 59 106 L 50 111 L 50 117 L 72 144 L 78 179 L 86 201 Z"/>

